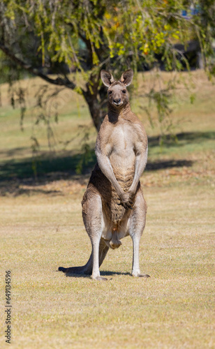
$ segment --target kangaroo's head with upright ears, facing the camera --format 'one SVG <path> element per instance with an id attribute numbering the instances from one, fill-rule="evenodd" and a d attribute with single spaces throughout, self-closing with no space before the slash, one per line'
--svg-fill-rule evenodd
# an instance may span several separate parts
<path id="1" fill-rule="evenodd" d="M 114 109 L 125 107 L 128 103 L 128 91 L 126 87 L 133 80 L 133 70 L 126 70 L 118 81 L 114 80 L 114 77 L 108 71 L 101 70 L 101 80 L 108 87 L 107 98 L 109 106 Z"/>

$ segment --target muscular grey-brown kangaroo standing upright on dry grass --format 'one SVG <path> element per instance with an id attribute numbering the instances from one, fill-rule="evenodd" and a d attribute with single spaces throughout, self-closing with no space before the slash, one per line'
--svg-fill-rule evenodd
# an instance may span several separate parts
<path id="1" fill-rule="evenodd" d="M 97 163 L 91 173 L 82 200 L 82 217 L 91 240 L 92 251 L 82 267 L 59 267 L 70 274 L 100 276 L 109 248 L 119 248 L 128 235 L 133 240 L 133 276 L 140 274 L 139 245 L 144 230 L 147 203 L 140 187 L 140 176 L 147 163 L 147 135 L 138 117 L 131 111 L 126 87 L 133 80 L 133 70 L 126 70 L 119 81 L 101 70 L 107 89 L 108 112 L 96 139 Z"/>

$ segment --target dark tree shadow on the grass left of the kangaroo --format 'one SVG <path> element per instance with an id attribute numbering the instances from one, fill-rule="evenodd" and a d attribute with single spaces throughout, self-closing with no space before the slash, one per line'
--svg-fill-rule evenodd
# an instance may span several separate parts
<path id="1" fill-rule="evenodd" d="M 6 156 L 6 154 L 4 154 Z M 75 179 L 82 183 L 84 177 L 90 174 L 94 164 L 96 163 L 96 156 L 94 151 L 91 151 L 91 161 L 83 166 L 82 174 L 78 175 L 75 172 L 78 163 L 80 163 L 82 154 L 68 153 L 59 154 L 55 156 L 44 155 L 36 162 L 36 174 L 33 170 L 34 163 L 32 158 L 24 160 L 11 160 L 0 163 L 0 196 L 4 195 L 22 195 L 30 193 L 44 193 L 61 194 L 61 191 L 44 190 L 38 188 L 52 181 L 60 179 Z M 29 188 L 22 188 L 28 186 Z"/>

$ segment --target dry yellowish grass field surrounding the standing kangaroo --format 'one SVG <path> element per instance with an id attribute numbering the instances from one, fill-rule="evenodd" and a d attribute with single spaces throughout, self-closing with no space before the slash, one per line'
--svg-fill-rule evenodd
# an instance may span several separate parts
<path id="1" fill-rule="evenodd" d="M 185 75 L 186 77 L 186 75 Z M 38 178 L 31 168 L 32 108 L 20 130 L 19 111 L 10 107 L 1 86 L 0 109 L 0 234 L 1 348 L 5 343 L 5 271 L 12 274 L 12 344 L 10 348 L 215 348 L 214 85 L 200 71 L 191 74 L 195 103 L 182 91 L 172 119 L 178 142 L 161 149 L 158 129 L 151 129 L 142 91 L 133 98 L 149 135 L 149 163 L 141 181 L 148 204 L 147 226 L 140 244 L 141 271 L 150 279 L 131 276 L 132 244 L 127 237 L 107 253 L 101 274 L 66 277 L 59 266 L 82 265 L 91 246 L 84 230 L 81 200 L 90 167 L 75 174 L 82 134 L 57 154 L 47 152 L 45 126 L 34 130 L 40 141 Z M 163 73 L 163 79 L 168 74 Z M 25 80 L 29 105 L 39 80 Z M 87 106 L 71 94 L 61 106 L 57 140 L 70 140 L 89 129 L 96 132 Z"/>

